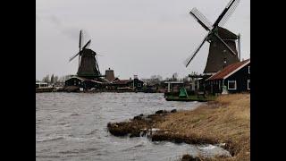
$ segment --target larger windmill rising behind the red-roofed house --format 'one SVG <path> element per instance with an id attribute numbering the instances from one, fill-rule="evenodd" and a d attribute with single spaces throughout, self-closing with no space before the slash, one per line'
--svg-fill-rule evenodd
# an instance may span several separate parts
<path id="1" fill-rule="evenodd" d="M 210 43 L 210 46 L 204 73 L 218 72 L 228 64 L 240 62 L 240 34 L 236 35 L 230 30 L 223 28 L 223 25 L 230 18 L 231 13 L 233 13 L 239 2 L 240 0 L 231 0 L 224 8 L 223 13 L 214 21 L 213 25 L 197 8 L 193 8 L 190 11 L 190 14 L 208 33 L 194 53 L 186 59 L 186 67 L 188 67 L 189 63 L 198 54 L 198 51 L 206 41 Z M 236 50 L 237 39 L 239 53 Z"/>

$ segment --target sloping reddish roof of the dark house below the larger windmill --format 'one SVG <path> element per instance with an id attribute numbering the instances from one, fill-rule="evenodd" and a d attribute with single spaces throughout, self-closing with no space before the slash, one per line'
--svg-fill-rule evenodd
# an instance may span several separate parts
<path id="1" fill-rule="evenodd" d="M 243 68 L 245 65 L 250 63 L 250 59 L 247 59 L 245 61 L 236 63 L 236 64 L 230 64 L 226 66 L 222 71 L 216 72 L 213 76 L 206 80 L 224 80 L 231 76 L 233 73 L 238 72 L 241 68 Z"/>

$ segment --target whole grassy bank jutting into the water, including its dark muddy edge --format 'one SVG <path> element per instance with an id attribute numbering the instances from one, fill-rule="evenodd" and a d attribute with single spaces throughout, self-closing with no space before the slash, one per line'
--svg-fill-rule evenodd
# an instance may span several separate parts
<path id="1" fill-rule="evenodd" d="M 114 136 L 146 135 L 152 141 L 221 144 L 231 154 L 203 160 L 250 160 L 250 95 L 219 96 L 194 110 L 139 114 L 128 122 L 108 123 L 107 129 Z M 182 154 L 182 160 L 188 159 L 193 158 Z"/>

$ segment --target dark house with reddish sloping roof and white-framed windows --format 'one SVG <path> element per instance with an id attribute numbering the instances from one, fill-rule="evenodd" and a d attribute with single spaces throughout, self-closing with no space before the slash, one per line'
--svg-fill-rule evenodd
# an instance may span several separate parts
<path id="1" fill-rule="evenodd" d="M 212 94 L 222 93 L 223 85 L 229 93 L 249 92 L 250 59 L 230 64 L 204 82 L 205 90 Z"/>

